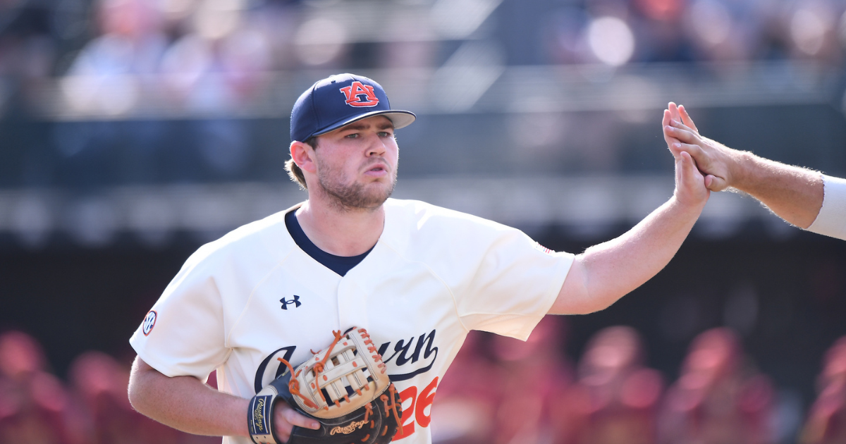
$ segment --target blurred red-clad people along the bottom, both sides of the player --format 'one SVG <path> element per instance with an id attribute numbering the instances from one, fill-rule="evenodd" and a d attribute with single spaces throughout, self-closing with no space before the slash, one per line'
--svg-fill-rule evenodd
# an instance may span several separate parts
<path id="1" fill-rule="evenodd" d="M 563 352 L 566 319 L 547 316 L 527 342 L 471 332 L 437 387 L 436 444 L 842 444 L 846 337 L 828 350 L 818 396 L 793 436 L 778 436 L 772 380 L 725 327 L 700 333 L 676 381 L 646 365 L 629 326 L 591 337 L 578 362 Z M 211 444 L 129 405 L 129 364 L 86 352 L 68 381 L 49 370 L 29 335 L 0 335 L 0 442 Z M 209 378 L 214 386 L 215 376 Z"/>

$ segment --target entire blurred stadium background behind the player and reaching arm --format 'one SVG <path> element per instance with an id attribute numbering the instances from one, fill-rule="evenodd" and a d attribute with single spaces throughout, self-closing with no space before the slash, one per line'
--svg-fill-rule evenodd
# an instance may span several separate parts
<path id="1" fill-rule="evenodd" d="M 118 413 L 127 340 L 197 247 L 305 199 L 283 162 L 316 79 L 367 75 L 418 114 L 396 197 L 580 252 L 672 195 L 667 101 L 727 145 L 846 176 L 844 11 L 0 0 L 0 442 L 217 441 Z M 846 243 L 713 194 L 667 269 L 612 308 L 528 344 L 473 335 L 432 427 L 442 443 L 846 442 L 844 320 Z M 497 370 L 462 379 L 479 366 Z M 520 378 L 536 385 L 505 389 Z"/>

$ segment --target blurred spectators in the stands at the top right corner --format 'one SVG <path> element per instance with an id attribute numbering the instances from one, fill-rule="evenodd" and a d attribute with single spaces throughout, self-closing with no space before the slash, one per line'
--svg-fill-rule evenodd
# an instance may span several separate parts
<path id="1" fill-rule="evenodd" d="M 613 66 L 785 59 L 839 66 L 844 10 L 842 0 L 588 0 L 552 14 L 547 53 L 550 63 Z"/>

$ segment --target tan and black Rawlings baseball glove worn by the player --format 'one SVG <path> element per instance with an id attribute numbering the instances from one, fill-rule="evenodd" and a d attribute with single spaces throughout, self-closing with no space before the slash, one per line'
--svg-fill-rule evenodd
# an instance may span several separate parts
<path id="1" fill-rule="evenodd" d="M 364 328 L 341 334 L 326 352 L 288 370 L 250 401 L 247 421 L 256 444 L 282 444 L 273 430 L 273 407 L 284 399 L 299 414 L 314 418 L 319 430 L 294 426 L 288 444 L 385 444 L 401 424 L 399 394 L 385 373 Z"/>

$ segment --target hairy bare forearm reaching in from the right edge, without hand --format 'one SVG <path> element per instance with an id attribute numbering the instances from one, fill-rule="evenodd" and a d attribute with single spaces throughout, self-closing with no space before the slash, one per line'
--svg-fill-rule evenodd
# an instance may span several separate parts
<path id="1" fill-rule="evenodd" d="M 822 206 L 820 173 L 773 162 L 744 153 L 732 184 L 734 188 L 761 200 L 778 217 L 807 228 Z"/>

